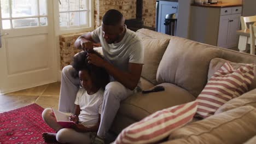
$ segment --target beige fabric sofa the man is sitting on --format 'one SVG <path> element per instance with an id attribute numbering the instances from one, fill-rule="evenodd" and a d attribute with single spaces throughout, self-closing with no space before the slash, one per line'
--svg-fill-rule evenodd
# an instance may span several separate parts
<path id="1" fill-rule="evenodd" d="M 256 63 L 256 56 L 247 53 L 149 29 L 139 29 L 136 33 L 144 46 L 141 88 L 152 89 L 160 85 L 165 91 L 139 92 L 122 101 L 110 128 L 116 135 L 156 111 L 194 101 L 226 61 L 234 67 Z M 162 143 L 256 143 L 255 70 L 249 92 L 228 101 L 211 117 L 194 118 L 184 127 L 172 131 Z"/>

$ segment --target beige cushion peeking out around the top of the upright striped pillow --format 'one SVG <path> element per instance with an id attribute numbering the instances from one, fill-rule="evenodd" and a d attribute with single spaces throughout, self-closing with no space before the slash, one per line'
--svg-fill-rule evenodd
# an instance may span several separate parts
<path id="1" fill-rule="evenodd" d="M 246 63 L 234 63 L 222 58 L 213 58 L 209 65 L 208 80 L 210 80 L 210 78 L 215 73 L 215 71 L 217 71 L 220 67 L 222 67 L 222 65 L 225 62 L 229 62 L 232 65 L 232 68 L 234 69 L 238 69 L 239 67 L 246 65 Z M 255 87 L 256 87 L 256 65 L 254 65 L 254 80 L 252 81 L 250 89 Z"/>

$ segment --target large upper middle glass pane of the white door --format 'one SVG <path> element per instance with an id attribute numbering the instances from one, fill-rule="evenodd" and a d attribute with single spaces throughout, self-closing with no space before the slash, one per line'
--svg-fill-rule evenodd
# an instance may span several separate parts
<path id="1" fill-rule="evenodd" d="M 12 17 L 36 16 L 37 0 L 12 0 L 11 12 Z"/>

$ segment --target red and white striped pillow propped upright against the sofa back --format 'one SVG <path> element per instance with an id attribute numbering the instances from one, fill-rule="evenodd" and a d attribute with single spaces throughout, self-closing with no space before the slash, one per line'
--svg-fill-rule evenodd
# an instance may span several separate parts
<path id="1" fill-rule="evenodd" d="M 226 62 L 213 74 L 197 97 L 198 109 L 195 117 L 206 118 L 214 115 L 220 106 L 246 93 L 253 79 L 253 64 L 247 64 L 235 70 Z"/>

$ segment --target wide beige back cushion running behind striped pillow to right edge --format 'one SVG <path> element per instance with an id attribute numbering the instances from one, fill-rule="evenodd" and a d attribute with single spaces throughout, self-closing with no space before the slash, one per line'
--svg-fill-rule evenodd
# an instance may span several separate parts
<path id="1" fill-rule="evenodd" d="M 254 55 L 172 37 L 159 64 L 156 80 L 158 83 L 174 83 L 197 97 L 207 83 L 208 69 L 213 58 L 236 63 L 256 63 Z"/>

